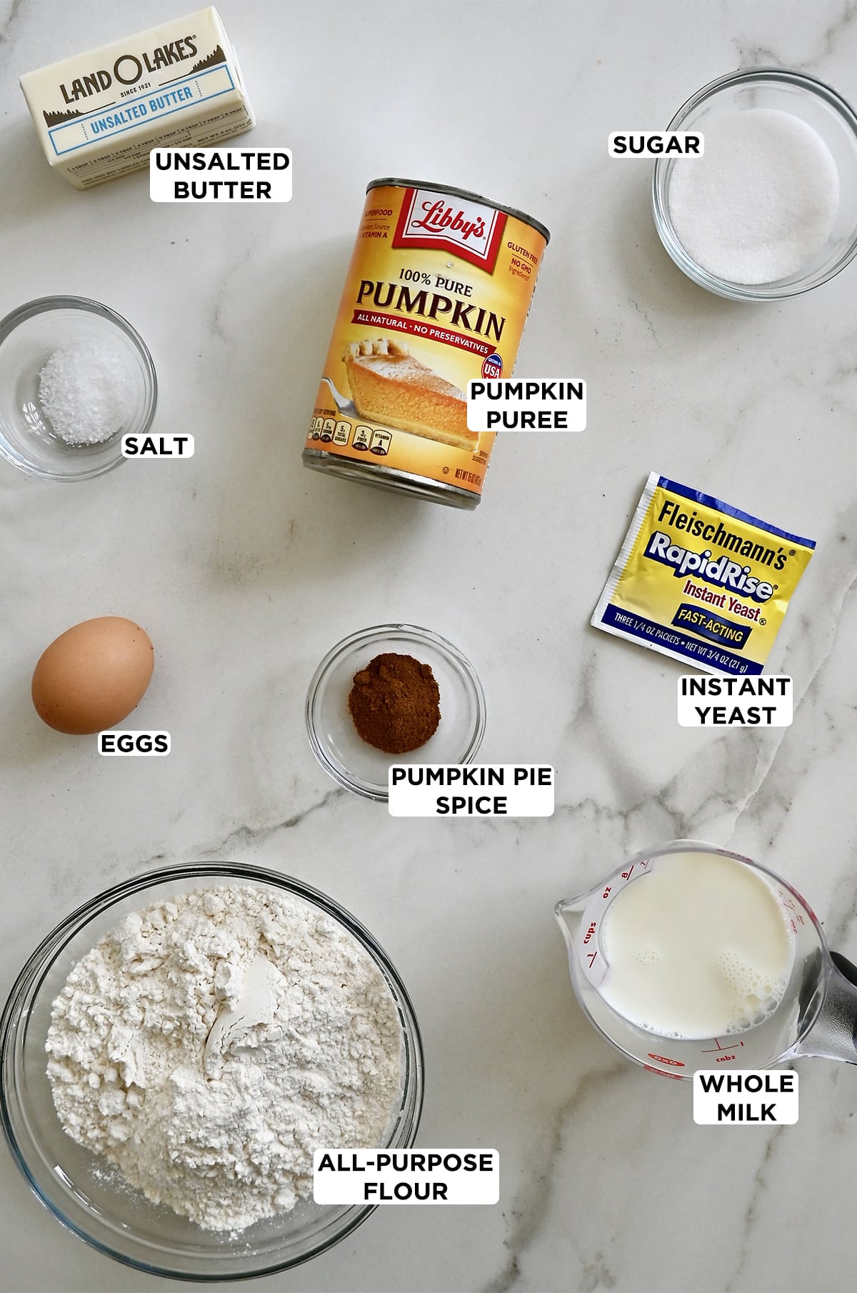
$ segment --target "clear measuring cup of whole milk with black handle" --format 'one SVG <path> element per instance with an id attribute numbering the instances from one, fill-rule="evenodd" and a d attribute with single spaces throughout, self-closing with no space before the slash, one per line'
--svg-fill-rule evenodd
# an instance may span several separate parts
<path id="1" fill-rule="evenodd" d="M 857 966 L 759 862 L 677 839 L 555 910 L 589 1021 L 650 1072 L 857 1064 Z"/>

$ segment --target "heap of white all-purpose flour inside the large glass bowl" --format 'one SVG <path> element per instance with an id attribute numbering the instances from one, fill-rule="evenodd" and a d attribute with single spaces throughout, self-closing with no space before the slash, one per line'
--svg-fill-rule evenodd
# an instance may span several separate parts
<path id="1" fill-rule="evenodd" d="M 66 1133 L 206 1230 L 310 1197 L 313 1151 L 383 1143 L 399 1103 L 398 1015 L 374 961 L 339 922 L 253 886 L 125 917 L 69 975 L 45 1050 Z"/>

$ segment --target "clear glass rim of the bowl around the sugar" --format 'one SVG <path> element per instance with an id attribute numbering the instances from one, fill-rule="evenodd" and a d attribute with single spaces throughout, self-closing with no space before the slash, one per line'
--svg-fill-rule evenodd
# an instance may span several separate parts
<path id="1" fill-rule="evenodd" d="M 857 114 L 848 102 L 843 98 L 832 85 L 827 85 L 826 81 L 818 80 L 817 76 L 807 76 L 805 72 L 794 71 L 790 67 L 739 67 L 734 72 L 726 72 L 725 76 L 719 76 L 716 80 L 708 81 L 701 89 L 692 94 L 690 98 L 681 105 L 679 111 L 675 114 L 667 131 L 680 131 L 685 118 L 704 103 L 706 100 L 712 98 L 715 94 L 720 93 L 723 89 L 728 89 L 733 85 L 739 85 L 743 81 L 785 81 L 788 85 L 798 85 L 809 93 L 817 94 L 823 98 L 839 115 L 843 118 L 848 128 L 851 129 L 854 140 L 857 141 Z M 701 265 L 693 260 L 688 252 L 684 250 L 682 244 L 679 242 L 676 233 L 672 228 L 672 221 L 670 219 L 670 208 L 667 204 L 666 193 L 666 175 L 670 159 L 658 158 L 654 163 L 651 175 L 651 208 L 654 213 L 654 222 L 658 230 L 658 237 L 666 247 L 671 259 L 676 262 L 680 270 L 698 283 L 701 287 L 707 288 L 710 292 L 715 292 L 717 296 L 725 296 L 732 301 L 777 301 L 785 300 L 788 296 L 800 296 L 803 292 L 810 291 L 813 287 L 821 287 L 822 283 L 830 282 L 835 278 L 857 255 L 857 226 L 852 235 L 851 243 L 841 253 L 839 260 L 831 265 L 831 268 L 818 279 L 812 279 L 809 282 L 787 283 L 783 287 L 768 287 L 768 284 L 742 284 L 732 283 L 726 278 L 717 278 L 716 274 L 710 274 Z"/>

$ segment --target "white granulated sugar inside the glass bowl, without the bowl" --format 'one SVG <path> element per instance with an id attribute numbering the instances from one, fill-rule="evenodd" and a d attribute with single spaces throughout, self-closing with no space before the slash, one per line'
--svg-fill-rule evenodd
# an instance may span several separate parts
<path id="1" fill-rule="evenodd" d="M 732 283 L 774 283 L 827 242 L 839 208 L 830 149 L 791 112 L 768 107 L 716 116 L 704 153 L 679 159 L 670 217 L 688 253 Z"/>

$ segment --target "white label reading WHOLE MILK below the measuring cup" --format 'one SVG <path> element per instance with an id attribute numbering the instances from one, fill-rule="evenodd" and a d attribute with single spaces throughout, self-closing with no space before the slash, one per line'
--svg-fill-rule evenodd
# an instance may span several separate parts
<path id="1" fill-rule="evenodd" d="M 777 1126 L 798 1121 L 798 1074 L 791 1069 L 698 1069 L 693 1121 L 702 1126 Z"/>

